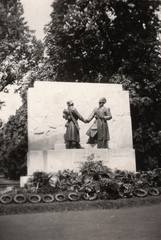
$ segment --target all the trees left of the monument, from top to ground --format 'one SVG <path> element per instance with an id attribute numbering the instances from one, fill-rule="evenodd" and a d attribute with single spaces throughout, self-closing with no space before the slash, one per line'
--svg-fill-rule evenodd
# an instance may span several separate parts
<path id="1" fill-rule="evenodd" d="M 15 84 L 23 100 L 15 116 L 0 128 L 0 169 L 12 178 L 24 170 L 28 150 L 26 91 L 35 81 L 32 72 L 44 53 L 43 43 L 36 39 L 22 15 L 19 0 L 0 0 L 0 91 Z"/>

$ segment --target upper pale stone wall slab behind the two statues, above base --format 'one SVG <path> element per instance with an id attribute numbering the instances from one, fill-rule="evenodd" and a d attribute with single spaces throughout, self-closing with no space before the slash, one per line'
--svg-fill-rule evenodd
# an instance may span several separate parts
<path id="1" fill-rule="evenodd" d="M 67 101 L 73 100 L 78 112 L 86 119 L 100 98 L 110 108 L 112 119 L 108 121 L 110 143 L 115 148 L 132 148 L 132 129 L 129 93 L 119 84 L 35 82 L 28 90 L 28 139 L 30 150 L 54 148 L 64 143 L 65 119 L 63 110 Z M 86 143 L 90 123 L 79 121 L 81 143 Z"/>

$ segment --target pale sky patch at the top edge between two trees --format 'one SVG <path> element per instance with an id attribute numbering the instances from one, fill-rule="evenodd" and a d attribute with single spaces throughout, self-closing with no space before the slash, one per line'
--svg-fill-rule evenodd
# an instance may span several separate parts
<path id="1" fill-rule="evenodd" d="M 30 30 L 36 30 L 35 35 L 37 39 L 43 40 L 44 25 L 49 23 L 52 12 L 51 4 L 53 0 L 20 0 L 23 9 L 25 21 L 28 22 Z"/>

